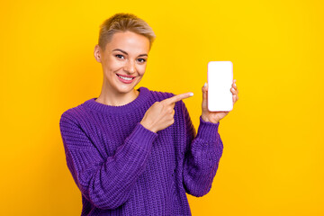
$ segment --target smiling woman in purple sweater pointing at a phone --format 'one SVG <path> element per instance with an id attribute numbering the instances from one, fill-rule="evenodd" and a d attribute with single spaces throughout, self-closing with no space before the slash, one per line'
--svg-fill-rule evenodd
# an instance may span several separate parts
<path id="1" fill-rule="evenodd" d="M 222 154 L 218 128 L 229 112 L 209 112 L 202 87 L 197 131 L 183 99 L 135 89 L 145 73 L 154 32 L 133 14 L 101 25 L 94 58 L 103 88 L 61 115 L 67 167 L 82 193 L 81 215 L 191 215 L 185 193 L 211 190 Z M 230 91 L 233 102 L 238 88 Z"/>

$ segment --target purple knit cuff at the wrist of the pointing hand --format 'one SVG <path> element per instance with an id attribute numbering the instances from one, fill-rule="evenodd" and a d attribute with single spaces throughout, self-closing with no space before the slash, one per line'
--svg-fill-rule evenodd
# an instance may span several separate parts
<path id="1" fill-rule="evenodd" d="M 141 143 L 142 145 L 147 145 L 153 143 L 157 139 L 157 133 L 146 129 L 140 123 L 137 123 L 135 129 L 130 133 L 128 137 L 132 142 Z"/>

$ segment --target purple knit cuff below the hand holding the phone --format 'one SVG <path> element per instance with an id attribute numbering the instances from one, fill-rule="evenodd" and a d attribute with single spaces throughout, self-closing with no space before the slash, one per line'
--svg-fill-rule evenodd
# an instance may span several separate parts
<path id="1" fill-rule="evenodd" d="M 202 116 L 200 116 L 200 124 L 198 127 L 198 132 L 196 137 L 204 140 L 215 141 L 218 139 L 219 126 L 220 126 L 220 121 L 218 121 L 217 123 L 203 121 Z"/>

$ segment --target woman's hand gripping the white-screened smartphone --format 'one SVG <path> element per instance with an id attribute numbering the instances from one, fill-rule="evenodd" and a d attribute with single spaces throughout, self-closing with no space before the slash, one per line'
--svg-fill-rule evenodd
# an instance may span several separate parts
<path id="1" fill-rule="evenodd" d="M 238 101 L 238 86 L 235 84 L 236 80 L 233 80 L 232 87 L 230 88 L 230 92 L 233 94 L 233 104 Z M 210 121 L 211 123 L 217 123 L 222 118 L 224 118 L 228 112 L 210 112 L 208 110 L 208 102 L 207 102 L 207 94 L 208 94 L 208 86 L 202 86 L 202 120 Z"/>

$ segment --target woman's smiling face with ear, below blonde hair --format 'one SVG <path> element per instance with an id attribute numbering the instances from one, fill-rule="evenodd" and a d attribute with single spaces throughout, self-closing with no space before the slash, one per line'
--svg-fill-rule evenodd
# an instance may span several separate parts
<path id="1" fill-rule="evenodd" d="M 105 49 L 94 48 L 103 67 L 103 87 L 112 94 L 133 94 L 144 76 L 149 51 L 147 37 L 132 31 L 116 32 Z"/>

